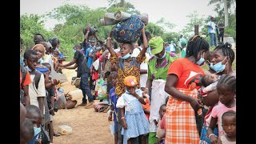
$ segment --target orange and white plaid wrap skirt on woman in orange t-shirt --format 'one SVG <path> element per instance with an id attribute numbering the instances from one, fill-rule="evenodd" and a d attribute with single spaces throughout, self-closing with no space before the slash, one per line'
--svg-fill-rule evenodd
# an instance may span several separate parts
<path id="1" fill-rule="evenodd" d="M 177 89 L 183 94 L 198 98 L 197 89 Z M 190 102 L 170 96 L 166 106 L 166 143 L 198 144 L 199 140 L 194 109 Z"/>

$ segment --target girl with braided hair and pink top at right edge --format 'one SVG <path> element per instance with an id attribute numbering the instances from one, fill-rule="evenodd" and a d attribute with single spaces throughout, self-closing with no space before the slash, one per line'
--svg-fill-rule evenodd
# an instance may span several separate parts
<path id="1" fill-rule="evenodd" d="M 222 138 L 226 134 L 222 127 L 222 114 L 229 110 L 236 111 L 236 100 L 234 98 L 236 94 L 236 78 L 230 75 L 222 75 L 220 80 L 218 80 L 217 90 L 220 102 L 212 110 L 210 126 L 207 130 L 211 143 L 217 143 L 218 138 Z M 218 137 L 213 133 L 217 123 Z"/>

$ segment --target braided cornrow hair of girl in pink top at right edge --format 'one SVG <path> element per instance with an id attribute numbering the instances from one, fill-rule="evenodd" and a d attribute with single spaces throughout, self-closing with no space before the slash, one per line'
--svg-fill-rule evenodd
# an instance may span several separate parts
<path id="1" fill-rule="evenodd" d="M 218 80 L 217 86 L 220 86 L 222 84 L 226 84 L 230 87 L 230 90 L 235 91 L 236 90 L 236 78 L 229 74 L 223 74 L 222 77 Z"/>

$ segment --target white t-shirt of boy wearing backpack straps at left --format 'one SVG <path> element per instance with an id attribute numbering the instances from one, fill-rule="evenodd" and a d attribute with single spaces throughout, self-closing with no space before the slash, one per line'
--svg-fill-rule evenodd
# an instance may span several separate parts
<path id="1" fill-rule="evenodd" d="M 29 94 L 30 94 L 30 105 L 38 106 L 38 97 L 46 97 L 46 87 L 45 87 L 45 78 L 43 74 L 41 74 L 41 78 L 38 82 L 38 90 L 36 90 L 36 86 L 34 85 L 34 76 L 35 74 L 30 74 L 31 83 L 29 85 Z M 43 110 L 43 114 L 45 114 L 45 110 Z"/>

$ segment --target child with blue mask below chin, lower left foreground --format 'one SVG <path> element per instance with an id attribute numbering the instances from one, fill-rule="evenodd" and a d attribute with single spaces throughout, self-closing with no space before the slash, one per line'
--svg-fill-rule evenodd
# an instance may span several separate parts
<path id="1" fill-rule="evenodd" d="M 27 142 L 27 144 L 34 144 L 38 139 L 38 134 L 41 131 L 40 125 L 42 123 L 42 113 L 38 106 L 29 105 L 26 106 L 26 118 L 29 118 L 34 126 L 34 138 Z"/>

